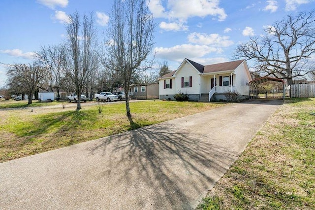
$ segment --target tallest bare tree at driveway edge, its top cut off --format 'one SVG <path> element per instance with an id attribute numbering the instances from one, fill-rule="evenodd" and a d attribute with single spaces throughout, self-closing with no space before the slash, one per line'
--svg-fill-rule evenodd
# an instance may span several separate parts
<path id="1" fill-rule="evenodd" d="M 121 74 L 128 90 L 130 80 L 152 66 L 148 56 L 153 49 L 156 25 L 147 0 L 114 0 L 110 18 L 106 65 Z M 126 115 L 131 119 L 128 97 Z"/>

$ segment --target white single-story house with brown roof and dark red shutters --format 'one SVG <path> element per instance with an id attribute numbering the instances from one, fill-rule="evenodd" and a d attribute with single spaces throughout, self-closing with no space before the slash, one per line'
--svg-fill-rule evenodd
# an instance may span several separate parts
<path id="1" fill-rule="evenodd" d="M 246 60 L 203 66 L 184 59 L 177 70 L 163 75 L 159 81 L 159 99 L 175 100 L 182 92 L 190 101 L 225 100 L 224 92 L 238 92 L 249 97 L 248 83 L 252 80 Z"/>

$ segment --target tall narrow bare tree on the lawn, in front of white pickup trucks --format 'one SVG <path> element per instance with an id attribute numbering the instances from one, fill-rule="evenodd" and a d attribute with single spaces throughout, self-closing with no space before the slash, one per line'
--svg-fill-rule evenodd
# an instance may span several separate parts
<path id="1" fill-rule="evenodd" d="M 78 96 L 77 110 L 79 110 L 81 109 L 80 95 L 98 66 L 97 39 L 92 14 L 90 17 L 83 14 L 82 24 L 78 12 L 70 15 L 69 19 L 70 21 L 65 27 L 67 40 L 64 75 L 75 86 L 75 93 Z M 82 34 L 80 34 L 80 30 Z"/>

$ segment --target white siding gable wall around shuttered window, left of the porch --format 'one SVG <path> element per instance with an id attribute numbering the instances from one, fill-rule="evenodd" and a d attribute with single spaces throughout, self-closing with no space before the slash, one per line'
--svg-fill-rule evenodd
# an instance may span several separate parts
<path id="1" fill-rule="evenodd" d="M 186 63 L 182 69 L 180 69 L 175 78 L 176 91 L 178 93 L 181 91 L 184 94 L 199 94 L 200 86 L 199 86 L 199 78 L 198 70 L 195 70 L 189 63 Z M 183 87 L 182 88 L 182 77 L 192 76 L 192 87 Z"/>

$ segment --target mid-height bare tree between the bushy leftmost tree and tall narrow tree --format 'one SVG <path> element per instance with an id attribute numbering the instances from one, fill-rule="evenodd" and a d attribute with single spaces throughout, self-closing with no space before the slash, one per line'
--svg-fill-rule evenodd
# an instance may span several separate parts
<path id="1" fill-rule="evenodd" d="M 51 90 L 56 88 L 57 101 L 59 101 L 60 89 L 62 88 L 61 79 L 64 76 L 65 46 L 62 44 L 41 46 L 35 57 L 36 62 L 47 69 L 46 85 Z"/>

